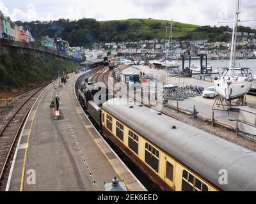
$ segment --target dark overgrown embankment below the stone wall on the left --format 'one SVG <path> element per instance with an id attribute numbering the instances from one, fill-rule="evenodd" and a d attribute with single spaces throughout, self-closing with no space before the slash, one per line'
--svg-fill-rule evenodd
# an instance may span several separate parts
<path id="1" fill-rule="evenodd" d="M 0 55 L 0 95 L 28 84 L 40 84 L 56 78 L 58 71 L 76 69 L 77 64 L 54 58 L 31 55 Z"/>

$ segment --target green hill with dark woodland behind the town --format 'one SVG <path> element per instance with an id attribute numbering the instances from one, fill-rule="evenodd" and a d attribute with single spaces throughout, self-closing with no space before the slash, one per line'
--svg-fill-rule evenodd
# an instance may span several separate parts
<path id="1" fill-rule="evenodd" d="M 60 19 L 50 22 L 16 22 L 29 27 L 33 37 L 40 40 L 42 36 L 53 38 L 56 34 L 70 41 L 70 46 L 85 46 L 93 42 L 134 41 L 165 38 L 165 27 L 172 24 L 168 20 L 129 19 L 97 21 L 93 18 L 83 18 L 77 21 Z M 198 25 L 173 22 L 173 38 L 184 38 L 189 31 L 194 31 Z M 168 31 L 168 33 L 170 30 Z"/>

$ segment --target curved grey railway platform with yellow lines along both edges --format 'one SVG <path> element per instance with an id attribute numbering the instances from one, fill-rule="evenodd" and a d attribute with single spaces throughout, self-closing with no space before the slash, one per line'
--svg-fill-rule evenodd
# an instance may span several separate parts
<path id="1" fill-rule="evenodd" d="M 84 114 L 74 92 L 81 74 L 38 98 L 20 134 L 6 191 L 104 191 L 117 176 L 129 191 L 146 191 Z M 60 118 L 50 101 L 60 98 Z"/>

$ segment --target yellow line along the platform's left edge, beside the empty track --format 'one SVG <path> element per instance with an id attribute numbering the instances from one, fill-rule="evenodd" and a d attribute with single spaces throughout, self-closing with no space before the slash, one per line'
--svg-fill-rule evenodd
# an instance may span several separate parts
<path id="1" fill-rule="evenodd" d="M 40 98 L 40 101 L 38 102 L 38 105 L 36 106 L 36 110 L 35 110 L 35 113 L 33 115 L 33 118 L 32 118 L 32 121 L 31 121 L 31 125 L 30 125 L 30 128 L 29 128 L 27 144 L 29 144 L 29 138 L 30 138 L 30 135 L 31 135 L 31 130 L 32 130 L 33 123 L 34 123 L 34 120 L 35 120 L 36 112 L 38 110 L 38 106 L 40 105 L 42 99 L 44 98 L 44 96 L 46 94 L 46 90 L 48 88 L 49 88 L 49 86 L 44 90 L 45 91 L 44 95 Z M 20 191 L 23 191 L 23 186 L 24 186 L 24 176 L 25 176 L 25 169 L 26 169 L 26 159 L 27 159 L 27 154 L 28 154 L 28 147 L 29 147 L 29 145 L 26 147 L 25 153 L 24 153 L 24 160 L 23 160 L 23 165 L 22 165 L 22 174 L 21 174 L 21 179 L 20 179 Z"/>

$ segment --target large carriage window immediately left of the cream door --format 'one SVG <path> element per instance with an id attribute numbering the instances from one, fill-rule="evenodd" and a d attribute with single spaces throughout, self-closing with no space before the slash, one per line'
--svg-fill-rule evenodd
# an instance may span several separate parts
<path id="1" fill-rule="evenodd" d="M 145 162 L 158 173 L 159 151 L 149 143 L 145 145 Z"/>

